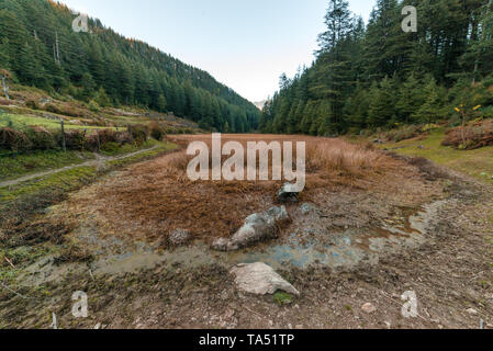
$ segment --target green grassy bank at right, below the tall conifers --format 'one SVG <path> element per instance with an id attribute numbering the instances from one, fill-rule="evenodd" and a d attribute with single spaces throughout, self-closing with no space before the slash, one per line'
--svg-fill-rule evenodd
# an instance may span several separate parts
<path id="1" fill-rule="evenodd" d="M 493 184 L 493 146 L 475 150 L 456 150 L 441 146 L 445 138 L 442 128 L 435 129 L 424 140 L 410 139 L 382 145 L 396 154 L 425 157 L 438 165 L 469 174 L 485 183 Z"/>

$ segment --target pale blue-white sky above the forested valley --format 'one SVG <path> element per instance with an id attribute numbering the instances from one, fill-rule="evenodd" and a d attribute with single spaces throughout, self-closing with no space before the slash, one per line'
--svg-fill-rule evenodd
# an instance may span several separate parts
<path id="1" fill-rule="evenodd" d="M 327 0 L 59 0 L 210 72 L 251 102 L 279 89 L 279 77 L 310 66 L 324 32 Z M 368 20 L 374 0 L 349 0 Z"/>

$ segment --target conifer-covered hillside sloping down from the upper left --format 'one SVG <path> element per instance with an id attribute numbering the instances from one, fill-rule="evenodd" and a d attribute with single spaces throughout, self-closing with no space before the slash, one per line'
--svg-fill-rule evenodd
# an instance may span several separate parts
<path id="1" fill-rule="evenodd" d="M 76 33 L 76 16 L 49 0 L 0 0 L 0 69 L 19 83 L 92 104 L 172 112 L 221 132 L 257 128 L 255 105 L 208 72 L 99 20 Z"/>

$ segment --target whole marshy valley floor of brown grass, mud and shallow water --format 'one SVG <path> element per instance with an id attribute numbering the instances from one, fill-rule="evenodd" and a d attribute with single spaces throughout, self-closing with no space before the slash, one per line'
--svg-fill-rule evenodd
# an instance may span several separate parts
<path id="1" fill-rule="evenodd" d="M 488 183 L 343 139 L 223 139 L 307 143 L 306 189 L 287 206 L 292 220 L 277 239 L 238 252 L 209 248 L 277 205 L 281 182 L 191 182 L 182 150 L 159 156 L 2 226 L 12 264 L 0 263 L 0 327 L 49 328 L 52 313 L 59 328 L 492 327 Z M 169 248 L 176 228 L 193 241 Z M 238 292 L 229 268 L 257 261 L 301 296 Z M 71 314 L 76 291 L 88 294 L 88 318 Z M 416 318 L 401 314 L 406 291 L 416 293 Z M 363 312 L 367 303 L 376 312 Z"/>

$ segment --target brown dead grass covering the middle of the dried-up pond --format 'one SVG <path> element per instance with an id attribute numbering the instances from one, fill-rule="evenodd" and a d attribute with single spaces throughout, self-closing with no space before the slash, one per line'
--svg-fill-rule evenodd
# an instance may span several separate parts
<path id="1" fill-rule="evenodd" d="M 209 143 L 210 135 L 172 136 L 172 141 L 187 145 L 192 140 Z M 307 143 L 306 188 L 301 201 L 320 197 L 327 191 L 383 189 L 392 195 L 408 191 L 405 181 L 421 176 L 415 168 L 368 145 L 354 145 L 343 139 L 225 135 L 228 140 L 289 140 Z M 108 233 L 158 239 L 181 228 L 195 238 L 229 236 L 245 217 L 276 204 L 282 181 L 198 181 L 186 174 L 190 156 L 181 151 L 134 165 L 126 171 L 77 194 L 70 213 L 97 217 Z M 404 180 L 402 180 L 404 182 Z M 393 183 L 395 186 L 390 186 Z M 412 182 L 408 182 L 410 184 Z M 414 183 L 410 186 L 415 185 Z M 416 188 L 416 186 L 415 186 Z M 405 190 L 404 190 L 405 189 Z"/>

